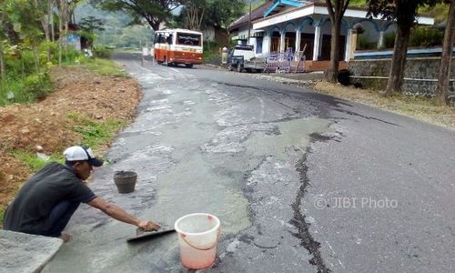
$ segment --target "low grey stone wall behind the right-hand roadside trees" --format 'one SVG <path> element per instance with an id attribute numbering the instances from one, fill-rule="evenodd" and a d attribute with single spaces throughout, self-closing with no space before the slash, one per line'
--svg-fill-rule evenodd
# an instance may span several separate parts
<path id="1" fill-rule="evenodd" d="M 389 77 L 391 59 L 350 60 L 348 69 L 351 76 L 384 76 Z M 406 61 L 405 78 L 438 79 L 440 73 L 440 57 L 409 58 Z M 452 58 L 450 78 L 455 79 L 455 58 Z M 387 78 L 367 79 L 351 78 L 365 88 L 384 90 Z M 405 80 L 403 92 L 412 96 L 435 96 L 437 81 Z M 455 96 L 455 81 L 450 82 L 450 96 Z"/>

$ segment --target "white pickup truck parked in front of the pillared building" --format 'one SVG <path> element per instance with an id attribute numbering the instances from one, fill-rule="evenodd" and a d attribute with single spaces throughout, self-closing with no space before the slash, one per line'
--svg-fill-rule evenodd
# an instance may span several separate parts
<path id="1" fill-rule="evenodd" d="M 253 45 L 236 45 L 227 53 L 227 65 L 231 71 L 262 72 L 266 68 L 266 59 L 255 56 Z"/>

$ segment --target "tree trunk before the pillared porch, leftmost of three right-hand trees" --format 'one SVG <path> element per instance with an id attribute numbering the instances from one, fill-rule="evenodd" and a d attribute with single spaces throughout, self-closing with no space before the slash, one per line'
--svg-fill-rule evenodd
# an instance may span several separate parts
<path id="1" fill-rule="evenodd" d="M 349 0 L 326 0 L 326 4 L 327 10 L 329 11 L 330 22 L 332 23 L 330 68 L 327 80 L 331 83 L 336 83 L 339 75 L 339 33 L 341 30 L 341 19 L 348 8 Z"/>

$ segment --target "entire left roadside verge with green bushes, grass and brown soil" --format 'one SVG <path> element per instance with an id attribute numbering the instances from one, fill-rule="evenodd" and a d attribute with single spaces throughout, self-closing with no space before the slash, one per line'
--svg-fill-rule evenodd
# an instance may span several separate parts
<path id="1" fill-rule="evenodd" d="M 0 223 L 27 177 L 63 162 L 68 146 L 102 153 L 135 114 L 136 82 L 108 59 L 112 48 L 94 45 L 101 22 L 87 18 L 70 31 L 75 8 L 66 1 L 0 3 Z M 75 37 L 92 54 L 77 50 Z"/>

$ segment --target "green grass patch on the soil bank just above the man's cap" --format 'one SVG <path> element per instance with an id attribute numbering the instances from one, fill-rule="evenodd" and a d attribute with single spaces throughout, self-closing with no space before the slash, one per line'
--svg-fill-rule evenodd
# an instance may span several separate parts
<path id="1" fill-rule="evenodd" d="M 69 113 L 67 116 L 76 120 L 78 126 L 74 130 L 82 136 L 82 144 L 92 148 L 109 142 L 116 135 L 116 132 L 126 125 L 125 121 L 118 119 L 97 122 L 75 112 Z"/>

